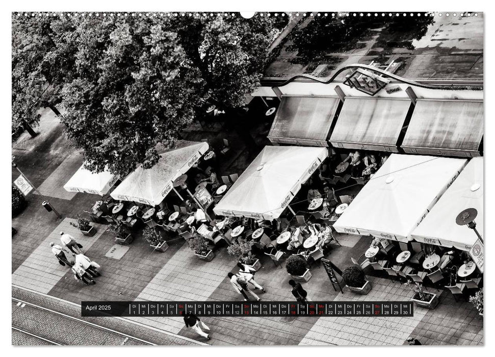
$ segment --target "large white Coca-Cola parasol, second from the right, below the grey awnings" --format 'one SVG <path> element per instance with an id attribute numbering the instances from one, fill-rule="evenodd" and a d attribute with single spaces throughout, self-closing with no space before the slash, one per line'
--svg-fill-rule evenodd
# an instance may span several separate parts
<path id="1" fill-rule="evenodd" d="M 392 154 L 333 227 L 337 232 L 408 242 L 466 163 L 465 159 Z"/>

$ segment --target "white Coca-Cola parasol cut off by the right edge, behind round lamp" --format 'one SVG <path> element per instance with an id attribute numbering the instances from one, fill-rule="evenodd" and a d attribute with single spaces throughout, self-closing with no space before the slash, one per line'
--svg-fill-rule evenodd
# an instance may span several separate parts
<path id="1" fill-rule="evenodd" d="M 476 229 L 483 236 L 483 158 L 472 159 L 459 177 L 440 197 L 430 213 L 412 232 L 418 242 L 456 247 L 468 251 L 476 242 L 476 233 L 457 225 L 457 215 L 466 208 L 475 208 Z"/>

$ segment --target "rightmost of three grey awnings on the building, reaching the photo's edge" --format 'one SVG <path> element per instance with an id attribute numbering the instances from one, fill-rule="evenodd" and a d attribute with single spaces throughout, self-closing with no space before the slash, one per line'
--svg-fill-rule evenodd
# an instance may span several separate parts
<path id="1" fill-rule="evenodd" d="M 401 147 L 413 154 L 480 156 L 483 101 L 418 99 Z"/>

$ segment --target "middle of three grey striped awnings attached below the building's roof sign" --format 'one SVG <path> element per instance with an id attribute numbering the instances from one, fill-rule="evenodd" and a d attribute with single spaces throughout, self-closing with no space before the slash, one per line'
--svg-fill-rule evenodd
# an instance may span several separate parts
<path id="1" fill-rule="evenodd" d="M 330 137 L 334 147 L 398 152 L 409 99 L 346 98 Z"/>

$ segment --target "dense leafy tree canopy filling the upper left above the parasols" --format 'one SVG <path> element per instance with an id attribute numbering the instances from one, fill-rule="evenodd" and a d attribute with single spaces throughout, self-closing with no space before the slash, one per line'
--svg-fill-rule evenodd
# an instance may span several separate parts
<path id="1" fill-rule="evenodd" d="M 32 118 L 24 108 L 49 84 L 87 168 L 125 175 L 154 165 L 155 145 L 172 145 L 211 103 L 244 105 L 263 75 L 274 19 L 149 15 L 14 16 L 14 117 Z"/>

